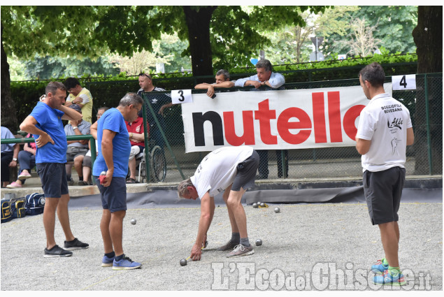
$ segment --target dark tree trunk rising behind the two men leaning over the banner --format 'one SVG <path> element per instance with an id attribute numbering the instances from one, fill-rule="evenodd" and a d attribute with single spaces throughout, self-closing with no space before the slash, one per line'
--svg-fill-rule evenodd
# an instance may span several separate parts
<path id="1" fill-rule="evenodd" d="M 217 6 L 182 6 L 188 27 L 193 75 L 213 75 L 210 20 Z"/>

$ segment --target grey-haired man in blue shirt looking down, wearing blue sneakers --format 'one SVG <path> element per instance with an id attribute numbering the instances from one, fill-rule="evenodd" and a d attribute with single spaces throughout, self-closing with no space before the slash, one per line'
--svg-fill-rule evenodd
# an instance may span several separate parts
<path id="1" fill-rule="evenodd" d="M 143 99 L 128 93 L 120 99 L 117 108 L 110 108 L 91 126 L 92 135 L 97 136 L 97 159 L 92 175 L 96 180 L 102 201 L 100 230 L 105 254 L 102 267 L 113 266 L 113 270 L 140 268 L 141 263 L 131 261 L 123 253 L 123 219 L 127 213 L 128 159 L 131 151 L 127 122 L 134 122 L 141 111 Z M 102 172 L 106 175 L 99 178 Z M 102 179 L 102 180 L 101 180 Z"/>

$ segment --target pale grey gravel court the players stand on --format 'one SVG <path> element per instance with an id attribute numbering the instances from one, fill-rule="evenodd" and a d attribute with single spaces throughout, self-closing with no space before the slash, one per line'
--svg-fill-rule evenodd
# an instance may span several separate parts
<path id="1" fill-rule="evenodd" d="M 275 206 L 280 208 L 277 214 Z M 328 270 L 315 269 L 327 265 L 354 276 L 357 270 L 369 270 L 383 255 L 378 226 L 371 225 L 364 203 L 301 203 L 259 209 L 245 205 L 245 212 L 250 242 L 263 240 L 262 246 L 254 247 L 255 254 L 229 259 L 227 252 L 215 250 L 231 236 L 227 208 L 217 205 L 202 260 L 180 266 L 180 259 L 189 256 L 194 243 L 200 209 L 129 209 L 124 219 L 124 252 L 143 266 L 126 271 L 100 266 L 100 209 L 70 210 L 71 229 L 89 243 L 89 249 L 73 251 L 66 258 L 43 258 L 41 215 L 14 219 L 1 225 L 1 290 L 296 289 L 276 280 L 276 275 L 299 277 L 304 284 L 299 283 L 298 289 L 303 290 L 375 289 L 362 287 L 362 280 L 355 278 L 350 283 L 341 277 L 333 280 L 327 277 Z M 442 290 L 443 283 L 442 213 L 442 203 L 401 203 L 399 210 L 401 269 L 413 270 L 415 285 L 420 284 L 418 275 L 429 275 L 432 290 Z M 135 225 L 129 222 L 133 218 Z M 62 246 L 64 235 L 58 221 L 55 236 Z M 248 284 L 245 267 L 251 270 Z M 328 283 L 320 283 L 322 276 Z"/>

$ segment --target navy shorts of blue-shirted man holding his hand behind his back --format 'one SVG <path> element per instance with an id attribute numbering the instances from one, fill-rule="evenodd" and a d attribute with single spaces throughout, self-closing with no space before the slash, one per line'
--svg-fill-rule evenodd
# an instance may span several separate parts
<path id="1" fill-rule="evenodd" d="M 102 207 L 110 212 L 127 210 L 127 182 L 125 178 L 113 178 L 109 187 L 100 184 L 98 176 L 93 176 L 100 191 Z"/>

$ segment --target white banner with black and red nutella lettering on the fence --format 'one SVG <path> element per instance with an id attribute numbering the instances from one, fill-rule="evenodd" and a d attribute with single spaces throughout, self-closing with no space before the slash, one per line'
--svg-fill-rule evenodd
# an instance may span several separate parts
<path id="1" fill-rule="evenodd" d="M 392 84 L 384 85 L 392 94 Z M 355 146 L 361 86 L 193 94 L 182 104 L 185 152 L 250 145 L 256 150 Z"/>

